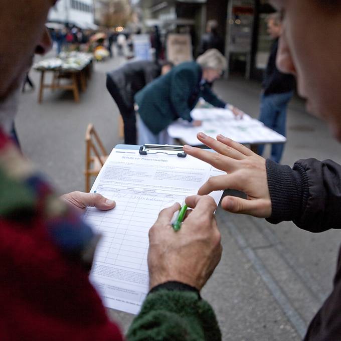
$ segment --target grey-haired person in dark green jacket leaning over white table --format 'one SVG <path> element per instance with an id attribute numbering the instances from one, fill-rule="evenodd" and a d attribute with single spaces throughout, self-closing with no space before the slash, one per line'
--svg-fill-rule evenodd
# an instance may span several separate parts
<path id="1" fill-rule="evenodd" d="M 242 116 L 241 110 L 219 99 L 208 84 L 218 79 L 225 69 L 225 57 L 218 50 L 210 49 L 196 62 L 182 63 L 140 90 L 135 95 L 138 144 L 172 144 L 167 127 L 180 117 L 195 126 L 201 125 L 201 121 L 191 117 L 200 97 L 215 107 L 229 108 L 236 116 Z"/>

